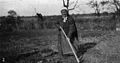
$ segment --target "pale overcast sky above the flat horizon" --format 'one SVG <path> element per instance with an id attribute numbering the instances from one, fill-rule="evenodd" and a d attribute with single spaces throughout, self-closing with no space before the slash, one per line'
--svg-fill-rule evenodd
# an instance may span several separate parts
<path id="1" fill-rule="evenodd" d="M 88 1 L 79 0 L 79 4 L 81 4 L 80 9 L 76 9 L 70 13 L 93 12 L 89 6 L 85 5 Z M 42 13 L 43 15 L 59 15 L 63 5 L 62 0 L 0 0 L 0 16 L 6 16 L 8 10 L 15 10 L 20 16 L 33 16 L 35 15 L 35 8 L 38 13 Z"/>

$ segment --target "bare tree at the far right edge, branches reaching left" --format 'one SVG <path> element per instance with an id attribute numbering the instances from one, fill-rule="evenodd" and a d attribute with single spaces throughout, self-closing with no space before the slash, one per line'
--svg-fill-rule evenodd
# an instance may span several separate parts
<path id="1" fill-rule="evenodd" d="M 117 22 L 119 21 L 118 18 L 120 16 L 120 0 L 107 0 L 107 1 L 102 1 L 101 4 L 103 6 L 107 6 L 107 10 L 113 10 L 113 17 L 112 19 L 114 19 L 113 23 L 113 27 L 112 29 L 116 29 L 117 26 Z"/>

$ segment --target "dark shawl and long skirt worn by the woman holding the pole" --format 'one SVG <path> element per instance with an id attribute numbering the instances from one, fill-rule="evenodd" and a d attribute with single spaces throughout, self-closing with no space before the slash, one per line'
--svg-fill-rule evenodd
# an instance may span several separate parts
<path id="1" fill-rule="evenodd" d="M 74 19 L 68 16 L 66 22 L 63 22 L 63 20 L 61 19 L 59 21 L 59 25 L 63 28 L 67 37 L 70 39 L 70 42 L 73 45 L 75 51 L 77 51 L 78 41 L 75 41 L 75 39 L 78 40 L 78 34 L 77 34 L 77 28 L 76 28 Z M 63 54 L 71 54 L 72 50 L 66 38 L 64 37 L 63 33 L 61 33 L 61 37 L 62 37 L 61 47 L 62 47 Z"/>

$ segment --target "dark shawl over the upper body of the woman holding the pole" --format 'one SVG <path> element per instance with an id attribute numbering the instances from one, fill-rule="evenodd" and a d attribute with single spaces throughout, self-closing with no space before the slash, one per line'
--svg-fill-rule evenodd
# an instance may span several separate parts
<path id="1" fill-rule="evenodd" d="M 73 39 L 73 38 L 78 39 L 77 28 L 75 25 L 75 21 L 72 17 L 68 16 L 66 22 L 63 22 L 63 20 L 61 20 L 60 26 L 63 28 L 66 35 L 70 39 Z"/>

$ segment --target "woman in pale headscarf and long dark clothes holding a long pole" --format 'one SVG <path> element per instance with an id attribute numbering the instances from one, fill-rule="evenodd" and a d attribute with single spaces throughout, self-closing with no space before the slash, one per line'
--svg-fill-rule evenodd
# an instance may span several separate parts
<path id="1" fill-rule="evenodd" d="M 74 19 L 69 15 L 67 9 L 61 10 L 62 19 L 58 22 L 58 25 L 60 25 L 67 37 L 70 39 L 70 42 L 72 46 L 74 47 L 75 52 L 77 52 L 77 45 L 78 45 L 78 34 L 77 34 L 77 28 L 75 25 Z M 59 28 L 59 27 L 58 27 Z M 62 31 L 59 29 L 61 38 L 60 41 L 60 47 L 63 55 L 73 55 L 72 49 L 70 45 L 68 44 L 65 36 L 63 35 Z"/>

